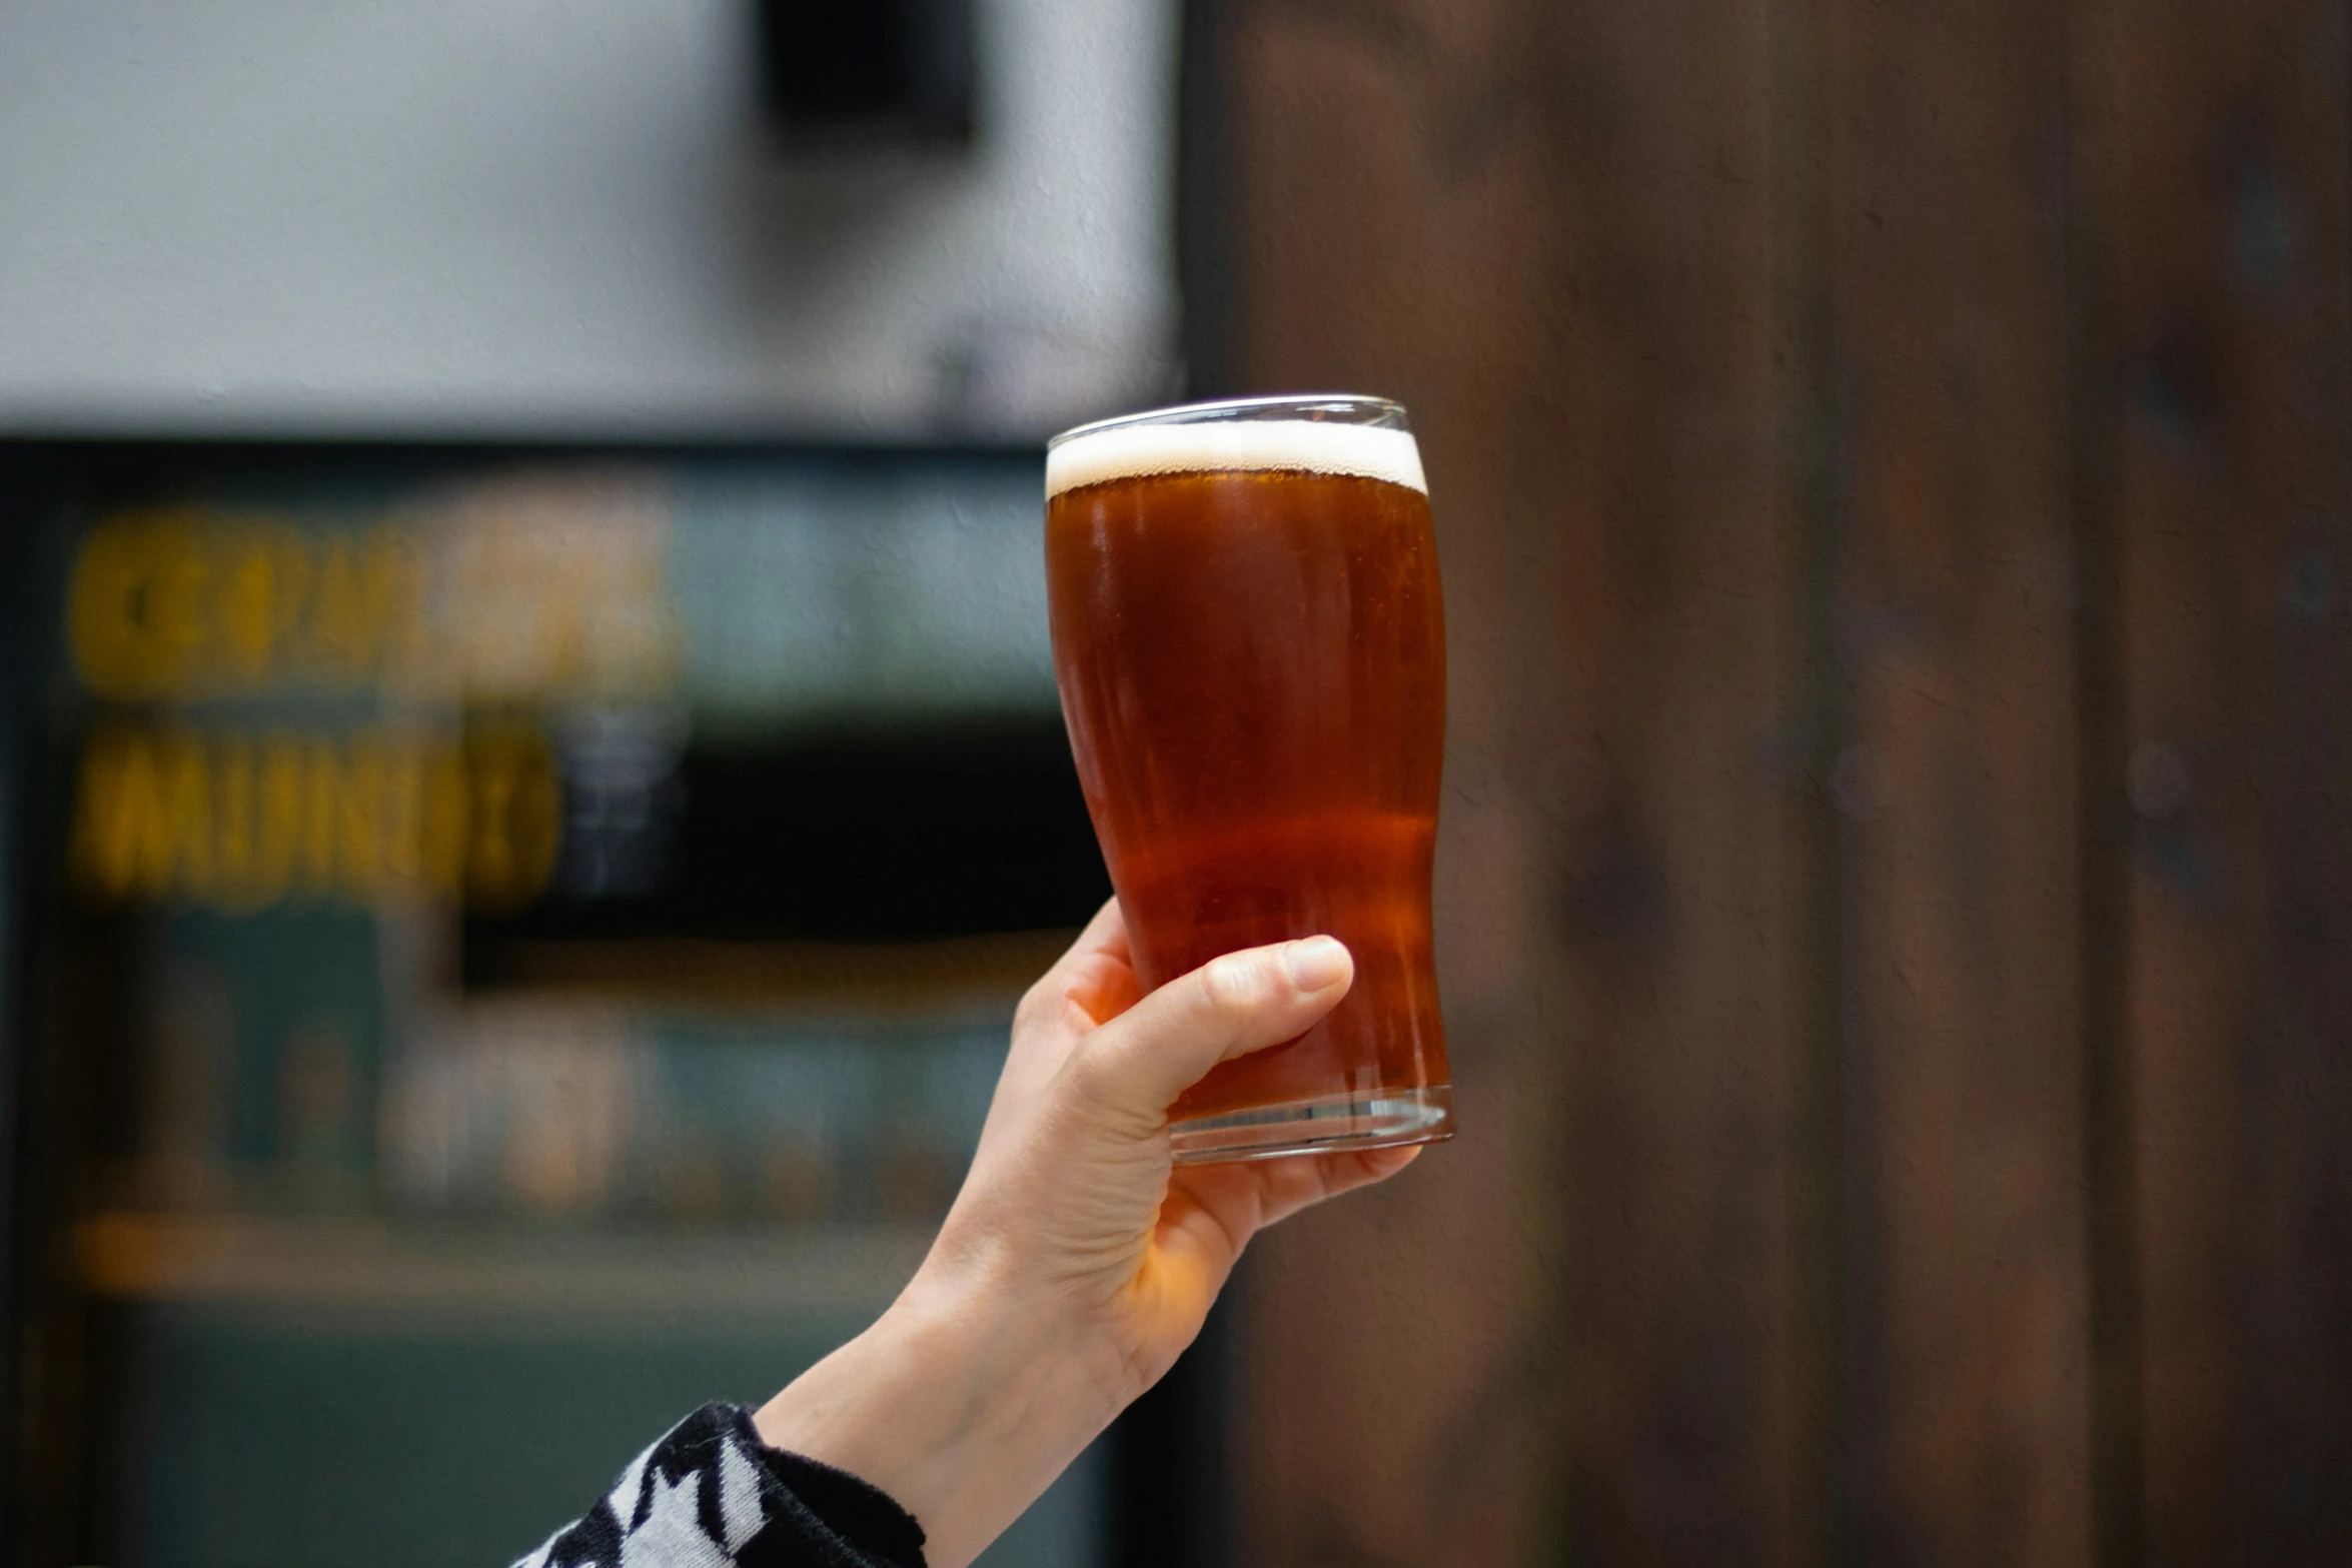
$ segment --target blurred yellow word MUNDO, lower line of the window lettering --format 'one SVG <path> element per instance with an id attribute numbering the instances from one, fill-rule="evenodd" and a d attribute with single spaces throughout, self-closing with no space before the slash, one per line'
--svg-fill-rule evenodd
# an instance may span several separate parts
<path id="1" fill-rule="evenodd" d="M 108 903 L 242 914 L 405 893 L 513 910 L 546 891 L 560 849 L 562 780 L 522 726 L 463 745 L 113 726 L 82 748 L 73 865 Z"/>

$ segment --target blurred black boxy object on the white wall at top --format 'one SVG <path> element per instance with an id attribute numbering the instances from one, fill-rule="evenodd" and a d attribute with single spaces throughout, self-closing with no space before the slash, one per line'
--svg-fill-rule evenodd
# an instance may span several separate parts
<path id="1" fill-rule="evenodd" d="M 971 141 L 971 0 L 757 0 L 757 16 L 760 89 L 786 139 Z"/>

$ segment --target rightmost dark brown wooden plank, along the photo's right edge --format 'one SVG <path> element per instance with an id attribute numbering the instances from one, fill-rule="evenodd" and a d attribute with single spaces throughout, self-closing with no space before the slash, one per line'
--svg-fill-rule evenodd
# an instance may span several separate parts
<path id="1" fill-rule="evenodd" d="M 2117 0 L 2098 110 L 2150 1563 L 2352 1561 L 2345 7 Z"/>

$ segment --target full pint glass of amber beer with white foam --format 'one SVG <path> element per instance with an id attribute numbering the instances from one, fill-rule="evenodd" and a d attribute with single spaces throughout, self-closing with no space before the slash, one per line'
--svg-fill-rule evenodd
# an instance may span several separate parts
<path id="1" fill-rule="evenodd" d="M 1178 1159 L 1454 1131 L 1430 954 L 1446 646 L 1404 409 L 1247 400 L 1047 451 L 1070 748 L 1136 976 L 1317 931 L 1355 985 L 1174 1110 Z"/>

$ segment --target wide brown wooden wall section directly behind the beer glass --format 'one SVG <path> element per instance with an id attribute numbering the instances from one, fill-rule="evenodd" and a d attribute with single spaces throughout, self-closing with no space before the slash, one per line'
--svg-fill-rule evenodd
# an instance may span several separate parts
<path id="1" fill-rule="evenodd" d="M 1792 1385 L 1762 9 L 1258 5 L 1232 47 L 1235 390 L 1399 395 L 1432 475 L 1465 1126 L 1254 1265 L 1251 1561 L 1771 1561 Z"/>

